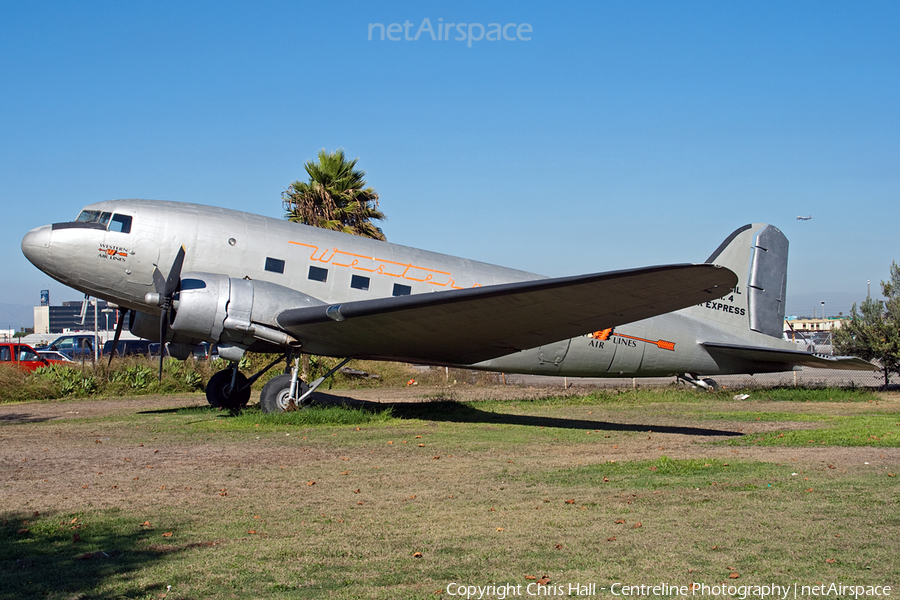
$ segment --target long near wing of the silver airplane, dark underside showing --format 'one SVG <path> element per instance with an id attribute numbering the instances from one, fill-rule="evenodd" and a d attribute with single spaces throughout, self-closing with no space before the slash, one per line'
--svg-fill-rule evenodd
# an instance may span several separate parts
<path id="1" fill-rule="evenodd" d="M 737 284 L 714 265 L 668 265 L 378 298 L 282 312 L 304 351 L 471 364 L 723 296 Z"/>

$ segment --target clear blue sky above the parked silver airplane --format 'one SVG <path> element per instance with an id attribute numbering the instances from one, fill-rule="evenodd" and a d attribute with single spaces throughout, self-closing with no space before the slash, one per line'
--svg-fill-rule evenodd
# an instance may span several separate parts
<path id="1" fill-rule="evenodd" d="M 360 158 L 390 241 L 547 275 L 701 262 L 768 222 L 791 243 L 788 312 L 836 314 L 900 260 L 896 2 L 0 2 L 0 17 L 0 327 L 29 326 L 41 289 L 80 299 L 22 256 L 29 229 L 111 198 L 278 217 L 322 148 Z M 466 26 L 404 39 L 426 18 Z M 454 39 L 491 23 L 530 39 Z"/>

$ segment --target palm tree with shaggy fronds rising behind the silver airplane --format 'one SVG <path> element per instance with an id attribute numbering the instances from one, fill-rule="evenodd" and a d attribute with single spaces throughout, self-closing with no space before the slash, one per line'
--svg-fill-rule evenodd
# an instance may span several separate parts
<path id="1" fill-rule="evenodd" d="M 319 151 L 319 162 L 306 163 L 309 182 L 295 181 L 282 192 L 285 218 L 323 229 L 386 239 L 372 221 L 387 217 L 378 210 L 378 193 L 366 187 L 366 172 L 356 169 L 358 158 L 347 160 L 343 150 Z"/>

